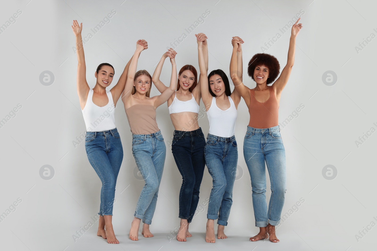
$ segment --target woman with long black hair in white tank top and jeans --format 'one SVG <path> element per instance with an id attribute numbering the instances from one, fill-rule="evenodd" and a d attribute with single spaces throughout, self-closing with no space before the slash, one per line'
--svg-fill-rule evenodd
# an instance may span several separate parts
<path id="1" fill-rule="evenodd" d="M 234 52 L 233 52 L 234 53 Z M 217 238 L 226 239 L 224 228 L 228 225 L 232 205 L 233 184 L 236 178 L 238 150 L 234 137 L 237 107 L 241 96 L 236 89 L 231 92 L 227 75 L 213 70 L 207 77 L 202 42 L 198 40 L 198 58 L 202 100 L 207 110 L 210 130 L 204 148 L 205 164 L 213 179 L 208 202 L 205 241 L 215 242 L 215 219 L 218 219 Z M 242 54 L 237 55 L 242 62 Z M 242 63 L 239 65 L 242 73 Z"/>

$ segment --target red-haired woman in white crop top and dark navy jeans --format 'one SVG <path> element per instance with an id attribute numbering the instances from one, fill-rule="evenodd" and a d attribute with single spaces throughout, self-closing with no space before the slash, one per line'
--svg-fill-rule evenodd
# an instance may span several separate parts
<path id="1" fill-rule="evenodd" d="M 207 47 L 207 37 L 203 33 L 196 35 L 197 40 L 202 41 Z M 167 87 L 160 81 L 162 65 L 169 56 L 162 55 L 152 81 L 159 92 Z M 208 51 L 204 52 L 205 67 L 208 69 Z M 179 218 L 180 227 L 177 240 L 186 241 L 191 237 L 189 224 L 195 214 L 199 201 L 199 189 L 204 172 L 204 146 L 205 139 L 202 129 L 198 125 L 199 104 L 201 99 L 200 85 L 197 85 L 197 73 L 192 65 L 185 65 L 179 70 L 177 90 L 167 100 L 170 118 L 175 128 L 172 142 L 172 152 L 178 170 L 182 175 L 182 186 L 179 192 Z"/>

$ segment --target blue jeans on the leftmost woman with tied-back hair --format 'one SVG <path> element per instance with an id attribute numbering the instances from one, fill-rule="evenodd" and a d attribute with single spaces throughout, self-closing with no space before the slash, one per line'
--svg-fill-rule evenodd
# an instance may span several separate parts
<path id="1" fill-rule="evenodd" d="M 100 214 L 113 215 L 116 178 L 123 160 L 123 148 L 116 128 L 86 132 L 86 155 L 102 182 Z"/>

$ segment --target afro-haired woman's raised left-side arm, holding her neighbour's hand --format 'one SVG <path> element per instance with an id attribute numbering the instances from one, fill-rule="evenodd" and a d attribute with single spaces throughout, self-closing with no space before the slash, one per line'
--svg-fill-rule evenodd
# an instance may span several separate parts
<path id="1" fill-rule="evenodd" d="M 232 38 L 233 52 L 230 59 L 229 71 L 234 89 L 237 90 L 237 93 L 244 98 L 248 105 L 250 103 L 250 88 L 242 82 L 242 43 L 244 41 L 241 38 Z"/>

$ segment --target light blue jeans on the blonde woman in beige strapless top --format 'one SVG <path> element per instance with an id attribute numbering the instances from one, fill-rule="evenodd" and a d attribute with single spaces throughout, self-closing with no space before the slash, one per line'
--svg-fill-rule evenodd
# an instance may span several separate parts
<path id="1" fill-rule="evenodd" d="M 133 134 L 132 154 L 145 182 L 134 216 L 150 225 L 156 209 L 166 157 L 166 146 L 161 131 L 152 134 Z"/>

